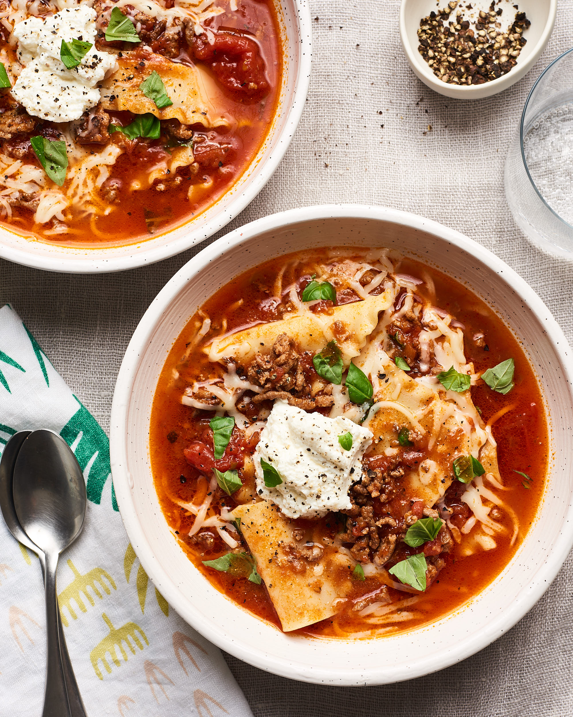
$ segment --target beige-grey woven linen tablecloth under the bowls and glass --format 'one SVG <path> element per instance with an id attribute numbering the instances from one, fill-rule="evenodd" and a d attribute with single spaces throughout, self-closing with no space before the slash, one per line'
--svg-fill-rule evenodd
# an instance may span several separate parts
<path id="1" fill-rule="evenodd" d="M 400 46 L 399 7 L 398 0 L 311 0 L 313 68 L 302 122 L 269 184 L 227 230 L 326 202 L 415 212 L 468 234 L 509 263 L 571 341 L 573 263 L 536 250 L 516 227 L 504 197 L 503 163 L 536 77 L 573 45 L 573 0 L 559 0 L 552 39 L 529 75 L 501 95 L 471 102 L 444 98 L 416 79 Z M 0 262 L 0 301 L 14 305 L 107 430 L 115 377 L 135 326 L 204 245 L 118 275 L 57 275 Z M 571 585 L 569 559 L 536 607 L 500 640 L 459 665 L 397 685 L 306 685 L 226 659 L 256 717 L 569 717 Z"/>

